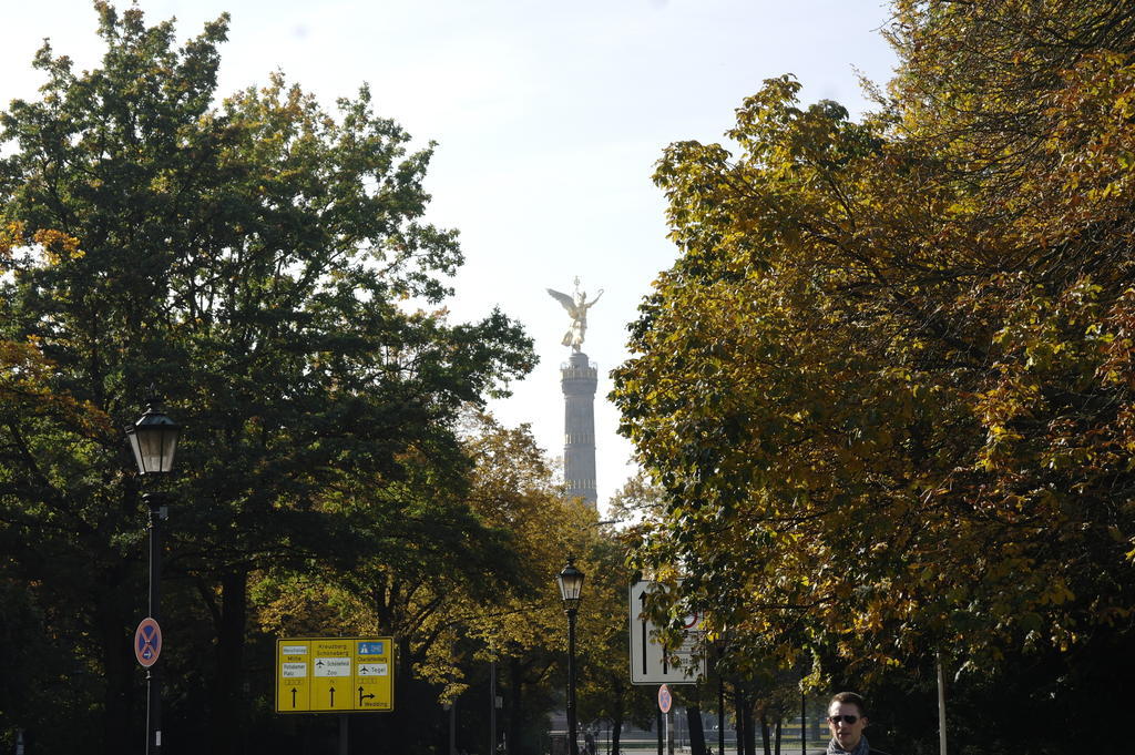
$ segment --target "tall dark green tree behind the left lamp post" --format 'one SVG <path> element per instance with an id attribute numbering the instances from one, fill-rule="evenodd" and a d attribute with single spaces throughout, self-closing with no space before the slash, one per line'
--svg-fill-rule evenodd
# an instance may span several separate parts
<path id="1" fill-rule="evenodd" d="M 173 694 L 199 704 L 208 683 L 209 715 L 175 706 L 171 725 L 222 733 L 246 710 L 250 574 L 388 557 L 368 528 L 426 505 L 418 460 L 460 478 L 446 464 L 461 459 L 461 408 L 532 355 L 499 312 L 453 325 L 409 311 L 449 293 L 461 254 L 455 232 L 421 220 L 431 146 L 407 151 L 365 87 L 331 114 L 275 75 L 218 104 L 227 17 L 175 49 L 171 23 L 95 8 L 101 67 L 76 73 L 44 45 L 40 99 L 0 118 L 0 358 L 15 376 L 0 396 L 0 540 L 44 636 L 96 674 L 94 699 L 73 698 L 104 721 L 85 749 L 117 752 L 138 720 L 127 648 L 144 595 L 119 428 L 151 389 L 186 426 L 169 621 L 194 638 L 191 657 L 216 640 L 205 678 L 187 669 Z M 480 531 L 451 513 L 448 527 Z M 10 683 L 42 681 L 27 673 Z"/>

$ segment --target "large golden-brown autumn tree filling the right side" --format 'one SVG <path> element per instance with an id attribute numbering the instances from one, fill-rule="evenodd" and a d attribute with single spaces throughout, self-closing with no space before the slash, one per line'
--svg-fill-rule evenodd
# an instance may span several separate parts
<path id="1" fill-rule="evenodd" d="M 1059 687 L 1133 640 L 1135 18 L 896 11 L 878 114 L 772 79 L 737 156 L 658 165 L 682 257 L 614 393 L 667 500 L 639 556 L 785 666 L 894 681 L 941 653 L 977 685 L 1031 655 Z"/>

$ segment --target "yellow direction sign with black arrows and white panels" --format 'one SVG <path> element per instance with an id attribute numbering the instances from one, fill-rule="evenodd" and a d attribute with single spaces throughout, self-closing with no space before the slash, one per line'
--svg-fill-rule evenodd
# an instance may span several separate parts
<path id="1" fill-rule="evenodd" d="M 390 637 L 276 640 L 276 712 L 394 710 Z"/>

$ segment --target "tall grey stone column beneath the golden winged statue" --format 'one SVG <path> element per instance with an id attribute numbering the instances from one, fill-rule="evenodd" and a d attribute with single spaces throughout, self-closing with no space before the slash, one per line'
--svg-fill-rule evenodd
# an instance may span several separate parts
<path id="1" fill-rule="evenodd" d="M 560 368 L 564 391 L 564 481 L 568 496 L 598 505 L 595 475 L 595 388 L 599 372 L 583 352 L 577 351 Z"/>

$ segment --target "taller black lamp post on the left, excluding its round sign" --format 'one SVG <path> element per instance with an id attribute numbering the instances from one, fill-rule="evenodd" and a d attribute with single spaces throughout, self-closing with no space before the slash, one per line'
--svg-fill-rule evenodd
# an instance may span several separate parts
<path id="1" fill-rule="evenodd" d="M 168 475 L 174 469 L 177 435 L 180 427 L 151 404 L 145 413 L 127 428 L 134 461 L 143 478 Z M 142 500 L 150 509 L 150 618 L 160 626 L 161 609 L 161 520 L 165 517 L 160 493 L 145 493 Z M 160 666 L 146 669 L 146 740 L 148 755 L 161 753 L 161 678 Z"/>

